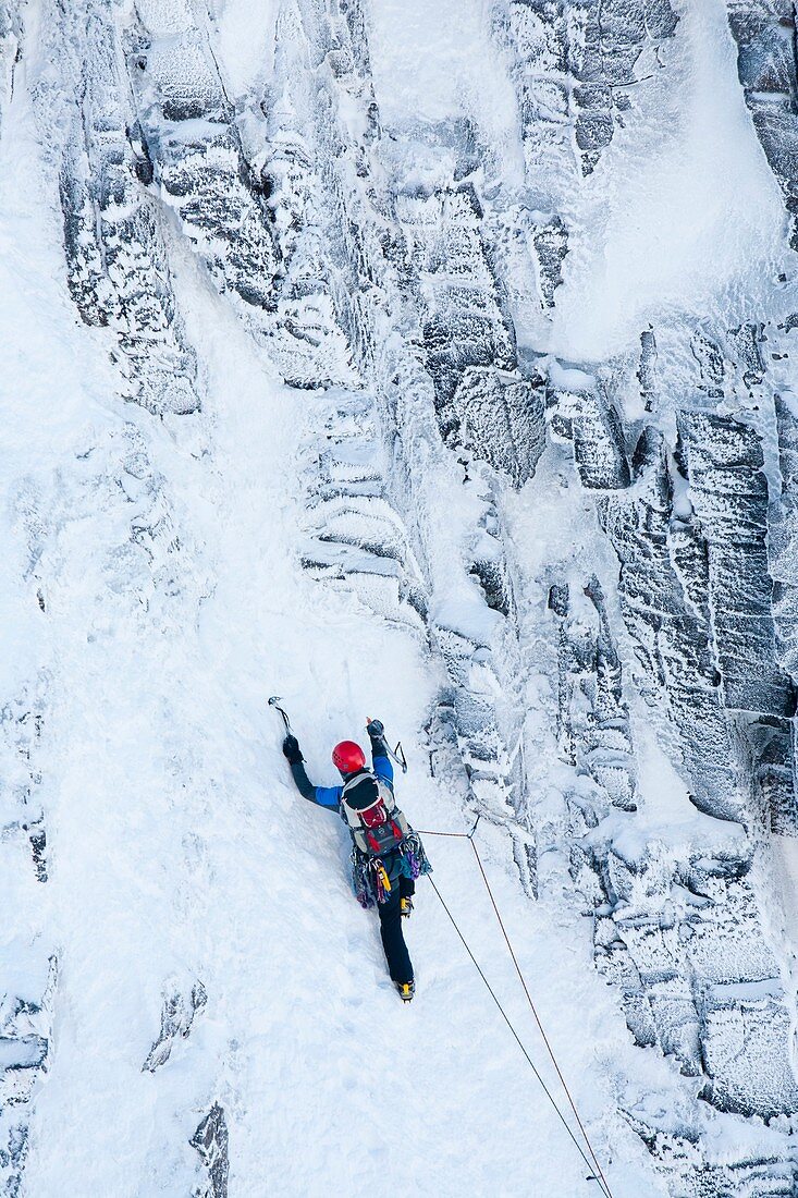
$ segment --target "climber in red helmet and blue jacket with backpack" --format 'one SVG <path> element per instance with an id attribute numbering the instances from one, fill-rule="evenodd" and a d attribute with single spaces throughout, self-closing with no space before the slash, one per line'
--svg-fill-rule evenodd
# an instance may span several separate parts
<path id="1" fill-rule="evenodd" d="M 341 775 L 340 786 L 314 786 L 304 769 L 300 743 L 290 732 L 283 752 L 291 767 L 297 789 L 312 803 L 338 811 L 352 837 L 352 883 L 363 907 L 376 903 L 382 946 L 391 980 L 404 1002 L 415 992 L 413 968 L 401 931 L 413 902 L 415 879 L 429 873 L 418 833 L 407 824 L 393 797 L 393 766 L 380 720 L 368 720 L 373 769 L 353 740 L 341 740 L 332 751 Z"/>

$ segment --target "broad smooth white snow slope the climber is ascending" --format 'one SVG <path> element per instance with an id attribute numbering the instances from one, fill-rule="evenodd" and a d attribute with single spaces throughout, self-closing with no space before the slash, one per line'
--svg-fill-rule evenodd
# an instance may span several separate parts
<path id="1" fill-rule="evenodd" d="M 365 713 L 379 712 L 412 763 L 407 811 L 464 828 L 418 742 L 434 685 L 425 654 L 351 598 L 320 601 L 296 561 L 297 436 L 312 400 L 297 404 L 177 252 L 177 294 L 202 345 L 204 412 L 186 429 L 126 406 L 77 323 L 62 271 L 53 278 L 56 229 L 23 89 L 2 155 L 4 344 L 13 355 L 4 377 L 16 380 L 5 395 L 14 435 L 6 510 L 29 490 L 52 521 L 38 563 L 46 611 L 22 564 L 5 600 L 19 645 L 6 659 L 18 677 L 6 685 L 35 666 L 46 672 L 52 876 L 46 898 L 29 875 L 6 901 L 20 915 L 16 940 L 43 940 L 62 962 L 26 1192 L 185 1194 L 197 1172 L 189 1137 L 218 1100 L 232 1193 L 388 1185 L 454 1194 L 497 1179 L 520 1193 L 530 1178 L 548 1193 L 591 1193 L 431 890 L 409 933 L 421 994 L 410 1010 L 397 1003 L 376 921 L 349 890 L 343 829 L 302 803 L 279 754 L 265 706 L 272 691 L 297 713 L 320 780 L 331 774 L 328 745 L 358 730 L 363 738 Z M 129 539 L 153 502 L 171 553 L 159 573 Z M 18 518 L 19 556 L 23 530 Z M 457 841 L 430 852 L 551 1083 L 474 864 Z M 611 1051 L 604 986 L 584 968 L 587 943 L 575 955 L 544 918 L 531 937 L 501 840 L 488 842 L 488 860 L 510 931 L 524 930 L 522 963 L 560 1029 L 563 1065 L 584 1077 L 585 1115 L 600 1121 L 588 1082 L 597 1047 L 576 1035 L 592 1008 L 600 1052 Z M 4 871 L 6 885 L 19 872 Z M 168 1071 L 143 1072 L 162 993 L 197 981 L 208 1000 L 189 1041 Z M 566 994 L 570 1028 L 558 1011 Z M 622 1053 L 619 1031 L 616 1040 Z M 485 1136 L 500 1082 L 501 1124 Z"/>

